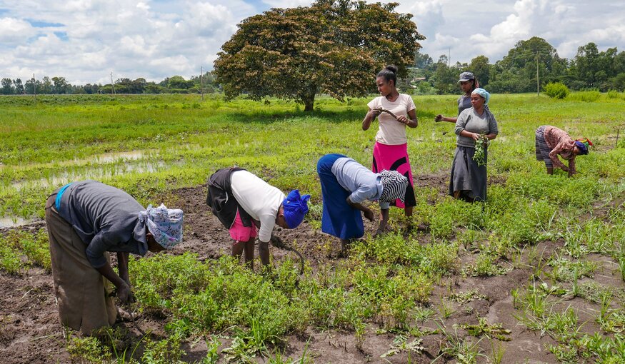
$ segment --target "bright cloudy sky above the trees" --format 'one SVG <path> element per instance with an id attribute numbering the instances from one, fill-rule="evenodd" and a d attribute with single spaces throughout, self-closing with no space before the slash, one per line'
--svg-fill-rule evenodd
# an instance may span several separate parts
<path id="1" fill-rule="evenodd" d="M 369 1 L 369 0 L 368 0 Z M 422 53 L 491 64 L 517 41 L 539 36 L 572 59 L 593 41 L 600 51 L 625 51 L 625 1 L 424 0 L 399 2 L 413 15 Z M 371 1 L 370 1 L 371 2 Z M 0 0 L 0 77 L 35 74 L 71 84 L 143 77 L 161 81 L 211 70 L 237 24 L 271 8 L 310 0 Z"/>

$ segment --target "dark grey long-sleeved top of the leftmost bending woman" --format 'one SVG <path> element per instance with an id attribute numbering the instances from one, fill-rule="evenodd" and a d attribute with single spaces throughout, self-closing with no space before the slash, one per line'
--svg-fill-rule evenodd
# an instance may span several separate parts
<path id="1" fill-rule="evenodd" d="M 59 206 L 59 215 L 85 243 L 94 268 L 106 264 L 106 251 L 146 254 L 146 224 L 139 222 L 140 211 L 145 208 L 128 193 L 92 180 L 71 183 Z"/>

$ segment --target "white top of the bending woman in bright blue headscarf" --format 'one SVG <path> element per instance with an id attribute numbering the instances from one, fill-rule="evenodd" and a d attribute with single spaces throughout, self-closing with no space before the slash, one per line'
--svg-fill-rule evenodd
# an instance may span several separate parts
<path id="1" fill-rule="evenodd" d="M 278 210 L 285 198 L 284 193 L 248 171 L 233 172 L 230 175 L 230 186 L 236 202 L 251 218 L 260 221 L 260 241 L 269 242 Z"/>

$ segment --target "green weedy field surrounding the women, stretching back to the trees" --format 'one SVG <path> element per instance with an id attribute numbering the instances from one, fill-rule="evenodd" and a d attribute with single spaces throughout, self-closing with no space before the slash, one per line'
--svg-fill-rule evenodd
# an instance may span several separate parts
<path id="1" fill-rule="evenodd" d="M 413 222 L 429 231 L 404 231 L 401 213 L 392 210 L 396 233 L 372 238 L 369 228 L 349 258 L 309 259 L 302 276 L 289 256 L 263 274 L 227 254 L 136 259 L 130 269 L 139 308 L 160 318 L 162 335 L 132 341 L 126 356 L 104 339 L 68 338 L 64 355 L 189 361 L 182 344 L 201 341 L 206 356 L 194 360 L 203 363 L 259 357 L 343 363 L 307 341 L 328 333 L 349 338 L 345 351 L 354 360 L 374 363 L 623 363 L 625 95 L 493 95 L 500 133 L 489 147 L 484 204 L 443 193 L 456 138 L 453 125 L 434 123 L 434 116 L 454 115 L 456 98 L 414 96 Z M 311 213 L 300 229 L 319 231 L 316 161 L 344 153 L 369 166 L 376 127 L 361 130 L 367 101 L 321 97 L 316 111 L 305 113 L 294 102 L 221 96 L 3 97 L 0 221 L 37 223 L 48 193 L 85 178 L 122 188 L 145 205 L 171 205 L 180 188 L 201 186 L 216 169 L 236 164 L 283 191 L 310 193 Z M 547 176 L 536 161 L 534 129 L 545 124 L 594 142 L 589 156 L 576 159 L 573 178 L 562 171 Z M 332 255 L 333 239 L 316 241 Z M 46 244 L 42 229 L 0 229 L 0 276 L 48 268 Z M 223 246 L 227 253 L 229 242 Z M 11 315 L 1 313 L 0 339 Z M 108 333 L 115 335 L 122 334 Z M 524 350 L 528 340 L 541 354 Z"/>

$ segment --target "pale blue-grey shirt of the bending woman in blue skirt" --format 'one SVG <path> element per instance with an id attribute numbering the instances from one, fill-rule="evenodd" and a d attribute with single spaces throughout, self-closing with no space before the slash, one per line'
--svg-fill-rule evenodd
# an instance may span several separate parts
<path id="1" fill-rule="evenodd" d="M 331 169 L 341 187 L 351 192 L 349 200 L 361 203 L 376 201 L 382 196 L 382 182 L 379 173 L 373 173 L 352 158 L 339 158 Z M 381 208 L 389 208 L 389 203 L 380 203 Z"/>

